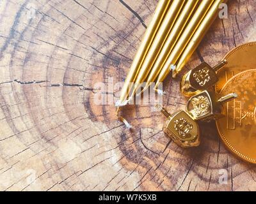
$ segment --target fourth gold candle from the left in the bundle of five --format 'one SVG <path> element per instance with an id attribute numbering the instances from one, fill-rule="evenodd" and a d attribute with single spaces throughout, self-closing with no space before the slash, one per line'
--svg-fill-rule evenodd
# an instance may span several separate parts
<path id="1" fill-rule="evenodd" d="M 202 22 L 202 20 L 204 19 L 205 14 L 209 10 L 213 2 L 214 1 L 212 0 L 204 0 L 199 4 L 197 10 L 195 11 L 195 14 L 189 20 L 186 29 L 180 36 L 179 41 L 177 41 L 177 44 L 173 48 L 171 54 L 169 55 L 167 61 L 161 69 L 159 76 L 157 77 L 155 89 L 157 89 L 159 83 L 163 82 L 164 78 L 166 78 L 168 73 L 170 73 L 170 67 L 172 67 L 172 65 L 174 66 L 175 62 L 177 62 L 177 60 L 179 59 L 182 51 L 184 50 L 184 48 L 186 48 L 186 45 L 189 43 L 189 40 L 192 38 L 193 34 L 200 25 L 200 22 Z"/>

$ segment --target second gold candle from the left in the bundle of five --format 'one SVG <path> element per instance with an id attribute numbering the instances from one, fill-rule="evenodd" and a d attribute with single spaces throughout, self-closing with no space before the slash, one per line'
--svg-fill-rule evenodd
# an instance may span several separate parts
<path id="1" fill-rule="evenodd" d="M 161 48 L 163 47 L 166 38 L 168 37 L 168 34 L 172 30 L 175 20 L 178 17 L 184 3 L 185 0 L 173 0 L 173 3 L 170 6 L 168 12 L 166 13 L 163 22 L 159 27 L 159 31 L 157 31 L 156 37 L 152 42 L 152 45 L 148 50 L 148 53 L 140 68 L 131 96 L 134 96 L 135 92 L 140 87 L 140 84 L 142 82 L 145 82 L 147 75 L 150 72 L 150 69 L 152 68 L 154 62 L 156 61 L 157 55 L 161 51 Z"/>

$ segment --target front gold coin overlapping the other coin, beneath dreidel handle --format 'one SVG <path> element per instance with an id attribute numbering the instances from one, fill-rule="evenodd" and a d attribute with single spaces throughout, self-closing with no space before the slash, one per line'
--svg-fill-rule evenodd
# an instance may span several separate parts
<path id="1" fill-rule="evenodd" d="M 236 92 L 237 99 L 223 105 L 225 117 L 216 120 L 221 140 L 234 154 L 256 163 L 256 69 L 230 78 L 221 96 Z"/>

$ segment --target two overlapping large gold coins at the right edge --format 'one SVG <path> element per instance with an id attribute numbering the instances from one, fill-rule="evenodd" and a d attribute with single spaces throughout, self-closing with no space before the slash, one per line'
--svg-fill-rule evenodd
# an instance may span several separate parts
<path id="1" fill-rule="evenodd" d="M 227 66 L 217 73 L 215 90 L 229 91 L 237 98 L 223 106 L 224 117 L 216 126 L 225 146 L 244 161 L 256 163 L 256 42 L 231 50 L 224 58 Z"/>

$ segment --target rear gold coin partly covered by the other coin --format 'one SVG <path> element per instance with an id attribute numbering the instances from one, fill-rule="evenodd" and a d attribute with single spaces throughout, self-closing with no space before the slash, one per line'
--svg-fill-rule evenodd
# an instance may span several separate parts
<path id="1" fill-rule="evenodd" d="M 256 68 L 256 42 L 246 43 L 234 48 L 223 59 L 228 63 L 221 68 L 217 75 L 219 81 L 215 85 L 216 92 L 220 92 L 227 80 L 242 71 Z"/>

